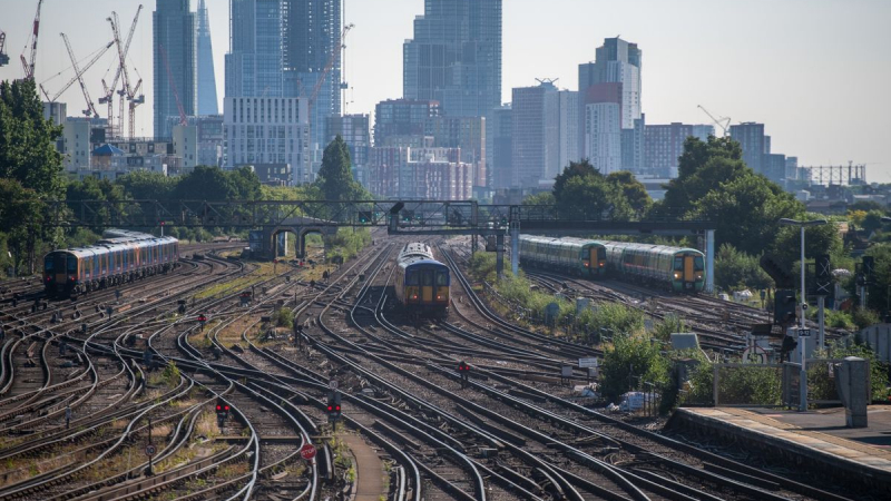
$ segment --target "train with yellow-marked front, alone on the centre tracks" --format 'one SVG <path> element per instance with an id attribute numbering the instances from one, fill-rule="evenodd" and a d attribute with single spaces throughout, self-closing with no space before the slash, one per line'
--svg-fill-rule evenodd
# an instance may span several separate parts
<path id="1" fill-rule="evenodd" d="M 405 244 L 396 256 L 395 296 L 410 314 L 444 317 L 449 313 L 449 267 L 423 243 Z"/>

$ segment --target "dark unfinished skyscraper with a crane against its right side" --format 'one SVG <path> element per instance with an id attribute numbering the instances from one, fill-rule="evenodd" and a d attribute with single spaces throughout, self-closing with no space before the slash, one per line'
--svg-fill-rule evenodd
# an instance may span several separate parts
<path id="1" fill-rule="evenodd" d="M 310 102 L 311 149 L 327 146 L 327 119 L 341 115 L 341 2 L 342 0 L 285 0 L 285 86 Z M 331 68 L 325 73 L 325 69 Z M 290 90 L 288 90 L 290 91 Z M 321 157 L 316 159 L 321 161 Z"/>

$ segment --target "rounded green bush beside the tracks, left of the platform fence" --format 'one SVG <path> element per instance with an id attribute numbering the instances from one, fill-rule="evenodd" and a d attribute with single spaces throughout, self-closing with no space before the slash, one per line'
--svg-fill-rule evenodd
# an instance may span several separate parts
<path id="1" fill-rule="evenodd" d="M 607 400 L 617 402 L 623 393 L 642 389 L 644 382 L 664 387 L 669 382 L 668 369 L 668 358 L 649 337 L 616 336 L 604 350 L 601 391 Z"/>

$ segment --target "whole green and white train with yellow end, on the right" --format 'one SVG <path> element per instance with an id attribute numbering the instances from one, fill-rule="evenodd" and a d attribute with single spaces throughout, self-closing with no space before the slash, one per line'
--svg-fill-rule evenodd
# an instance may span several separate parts
<path id="1" fill-rule="evenodd" d="M 695 248 L 520 235 L 520 264 L 582 277 L 615 276 L 678 293 L 705 285 L 705 256 Z"/>

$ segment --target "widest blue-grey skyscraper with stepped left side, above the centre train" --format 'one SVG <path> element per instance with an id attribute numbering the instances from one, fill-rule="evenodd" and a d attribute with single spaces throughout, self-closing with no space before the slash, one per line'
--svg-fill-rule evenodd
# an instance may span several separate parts
<path id="1" fill-rule="evenodd" d="M 403 97 L 444 116 L 484 117 L 501 104 L 501 0 L 425 0 L 403 45 Z"/>

